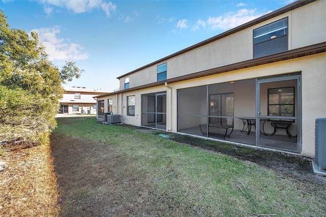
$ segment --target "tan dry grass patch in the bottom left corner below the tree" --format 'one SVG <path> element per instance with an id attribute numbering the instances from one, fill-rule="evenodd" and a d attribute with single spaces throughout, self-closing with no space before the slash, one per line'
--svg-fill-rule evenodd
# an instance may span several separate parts
<path id="1" fill-rule="evenodd" d="M 0 156 L 0 216 L 59 216 L 56 175 L 49 145 Z"/>

